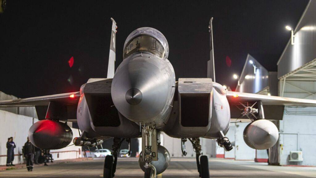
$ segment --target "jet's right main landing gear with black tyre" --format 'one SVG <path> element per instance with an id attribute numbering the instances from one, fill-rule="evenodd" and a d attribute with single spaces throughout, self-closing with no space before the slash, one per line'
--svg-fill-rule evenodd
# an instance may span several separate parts
<path id="1" fill-rule="evenodd" d="M 199 137 L 191 138 L 191 139 L 189 138 L 189 140 L 192 143 L 193 151 L 195 152 L 195 155 L 196 155 L 197 171 L 199 173 L 199 177 L 210 178 L 209 159 L 207 158 L 207 156 L 201 156 L 203 155 L 203 153 L 201 153 L 202 146 L 200 145 L 200 138 Z"/>

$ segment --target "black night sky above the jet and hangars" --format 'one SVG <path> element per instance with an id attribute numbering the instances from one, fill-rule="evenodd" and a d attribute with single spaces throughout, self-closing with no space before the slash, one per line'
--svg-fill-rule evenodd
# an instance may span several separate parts
<path id="1" fill-rule="evenodd" d="M 111 20 L 118 25 L 116 67 L 126 37 L 140 27 L 160 30 L 178 78 L 202 78 L 213 16 L 216 82 L 235 88 L 247 54 L 276 71 L 307 0 L 15 1 L 0 14 L 0 91 L 21 98 L 79 91 L 105 78 Z M 74 57 L 73 67 L 68 60 Z M 226 64 L 227 56 L 231 66 Z M 79 71 L 80 69 L 80 71 Z M 71 76 L 72 84 L 67 79 Z"/>

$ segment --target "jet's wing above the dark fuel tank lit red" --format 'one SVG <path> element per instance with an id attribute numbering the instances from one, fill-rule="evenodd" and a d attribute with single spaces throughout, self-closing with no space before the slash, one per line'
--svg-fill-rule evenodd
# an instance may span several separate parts
<path id="1" fill-rule="evenodd" d="M 71 92 L 33 98 L 11 99 L 0 101 L 0 107 L 48 106 L 50 102 L 62 105 L 74 105 L 78 104 L 79 97 L 80 92 Z"/>

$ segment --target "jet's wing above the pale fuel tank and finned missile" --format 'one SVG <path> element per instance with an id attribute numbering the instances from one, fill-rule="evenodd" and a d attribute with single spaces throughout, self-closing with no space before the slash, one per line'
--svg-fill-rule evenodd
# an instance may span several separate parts
<path id="1" fill-rule="evenodd" d="M 282 120 L 284 106 L 316 106 L 316 100 L 311 99 L 286 98 L 232 91 L 227 91 L 227 99 L 230 105 L 232 122 L 250 121 L 247 117 L 241 117 L 241 110 L 244 107 L 240 103 L 244 105 L 249 104 L 249 106 L 254 105 L 254 108 L 258 109 L 256 117 L 268 120 Z"/>

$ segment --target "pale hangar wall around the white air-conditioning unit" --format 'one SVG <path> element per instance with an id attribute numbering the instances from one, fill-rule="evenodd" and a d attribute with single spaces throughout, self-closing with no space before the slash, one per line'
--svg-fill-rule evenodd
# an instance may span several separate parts
<path id="1" fill-rule="evenodd" d="M 316 165 L 314 107 L 286 107 L 280 121 L 280 164 Z M 303 162 L 289 162 L 290 151 L 302 151 Z"/>

